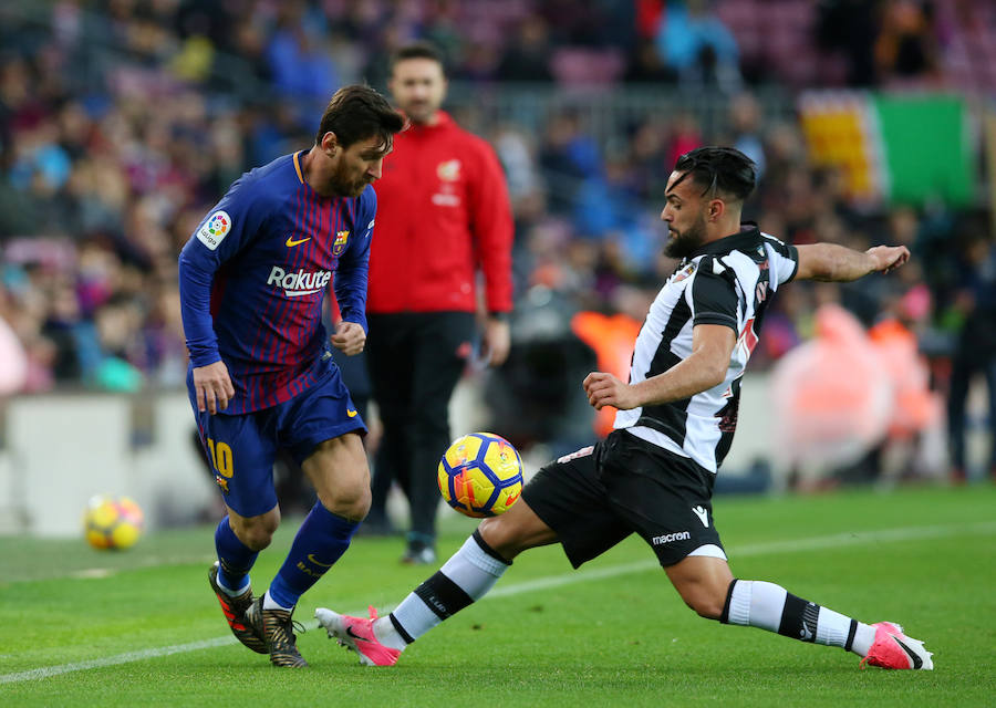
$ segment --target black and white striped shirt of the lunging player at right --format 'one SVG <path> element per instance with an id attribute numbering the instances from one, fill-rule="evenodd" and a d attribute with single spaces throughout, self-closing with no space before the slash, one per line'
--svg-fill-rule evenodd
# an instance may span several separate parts
<path id="1" fill-rule="evenodd" d="M 682 261 L 654 299 L 633 351 L 630 383 L 656 376 L 692 354 L 692 327 L 733 327 L 737 344 L 718 386 L 672 403 L 620 410 L 615 428 L 689 457 L 715 472 L 733 442 L 740 377 L 757 344 L 765 310 L 796 275 L 793 246 L 745 225 Z"/>

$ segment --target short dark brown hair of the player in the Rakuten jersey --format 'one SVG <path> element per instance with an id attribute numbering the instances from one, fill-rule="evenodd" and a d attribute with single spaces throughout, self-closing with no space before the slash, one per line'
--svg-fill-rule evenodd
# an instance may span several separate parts
<path id="1" fill-rule="evenodd" d="M 332 96 L 315 142 L 321 144 L 325 133 L 335 133 L 339 144 L 346 148 L 357 140 L 365 140 L 374 135 L 380 136 L 381 145 L 386 152 L 394 134 L 405 127 L 405 119 L 391 107 L 387 100 L 370 86 L 353 84 L 343 86 Z"/>

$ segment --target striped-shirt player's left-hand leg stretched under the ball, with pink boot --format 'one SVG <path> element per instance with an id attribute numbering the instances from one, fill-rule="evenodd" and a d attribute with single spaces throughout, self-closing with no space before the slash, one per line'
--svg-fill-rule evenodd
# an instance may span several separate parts
<path id="1" fill-rule="evenodd" d="M 373 607 L 369 620 L 323 607 L 315 616 L 363 664 L 387 666 L 408 644 L 487 594 L 522 551 L 559 541 L 574 568 L 601 554 L 631 531 L 605 509 L 592 449 L 539 470 L 518 502 L 483 521 L 387 617 L 377 618 Z"/>

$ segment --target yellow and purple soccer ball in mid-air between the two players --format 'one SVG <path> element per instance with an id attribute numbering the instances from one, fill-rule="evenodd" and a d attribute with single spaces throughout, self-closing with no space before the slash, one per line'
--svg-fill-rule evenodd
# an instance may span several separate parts
<path id="1" fill-rule="evenodd" d="M 460 513 L 497 517 L 522 493 L 522 460 L 505 438 L 471 433 L 446 450 L 438 481 L 443 499 Z"/>

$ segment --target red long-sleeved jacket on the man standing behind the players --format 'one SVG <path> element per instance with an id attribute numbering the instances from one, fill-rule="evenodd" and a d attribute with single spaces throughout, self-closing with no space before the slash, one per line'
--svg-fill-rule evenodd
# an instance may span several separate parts
<path id="1" fill-rule="evenodd" d="M 374 188 L 367 312 L 474 312 L 477 271 L 488 311 L 511 310 L 511 207 L 484 139 L 439 112 L 395 136 Z"/>

